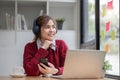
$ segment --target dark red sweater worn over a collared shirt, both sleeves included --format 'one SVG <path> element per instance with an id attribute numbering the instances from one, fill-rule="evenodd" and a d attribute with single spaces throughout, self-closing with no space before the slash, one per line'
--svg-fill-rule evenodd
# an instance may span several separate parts
<path id="1" fill-rule="evenodd" d="M 39 76 L 41 74 L 37 66 L 40 58 L 48 58 L 48 61 L 58 69 L 57 74 L 62 74 L 68 47 L 63 40 L 56 40 L 55 42 L 55 51 L 52 49 L 38 49 L 36 42 L 26 44 L 23 55 L 23 67 L 27 76 Z"/>

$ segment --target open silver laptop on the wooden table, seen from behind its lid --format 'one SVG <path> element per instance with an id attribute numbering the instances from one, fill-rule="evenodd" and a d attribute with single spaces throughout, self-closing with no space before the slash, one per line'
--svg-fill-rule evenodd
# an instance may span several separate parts
<path id="1" fill-rule="evenodd" d="M 100 50 L 68 50 L 63 75 L 55 78 L 103 78 L 105 52 Z"/>

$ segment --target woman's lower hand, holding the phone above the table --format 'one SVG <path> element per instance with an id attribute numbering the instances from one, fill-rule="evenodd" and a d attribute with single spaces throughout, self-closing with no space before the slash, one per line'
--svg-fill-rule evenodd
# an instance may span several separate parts
<path id="1" fill-rule="evenodd" d="M 43 66 L 44 68 L 42 68 L 40 65 Z M 50 62 L 48 62 L 49 67 L 42 63 L 40 63 L 40 65 L 38 64 L 38 68 L 40 72 L 43 74 L 56 74 L 58 72 L 58 69 L 56 69 L 54 65 Z"/>

